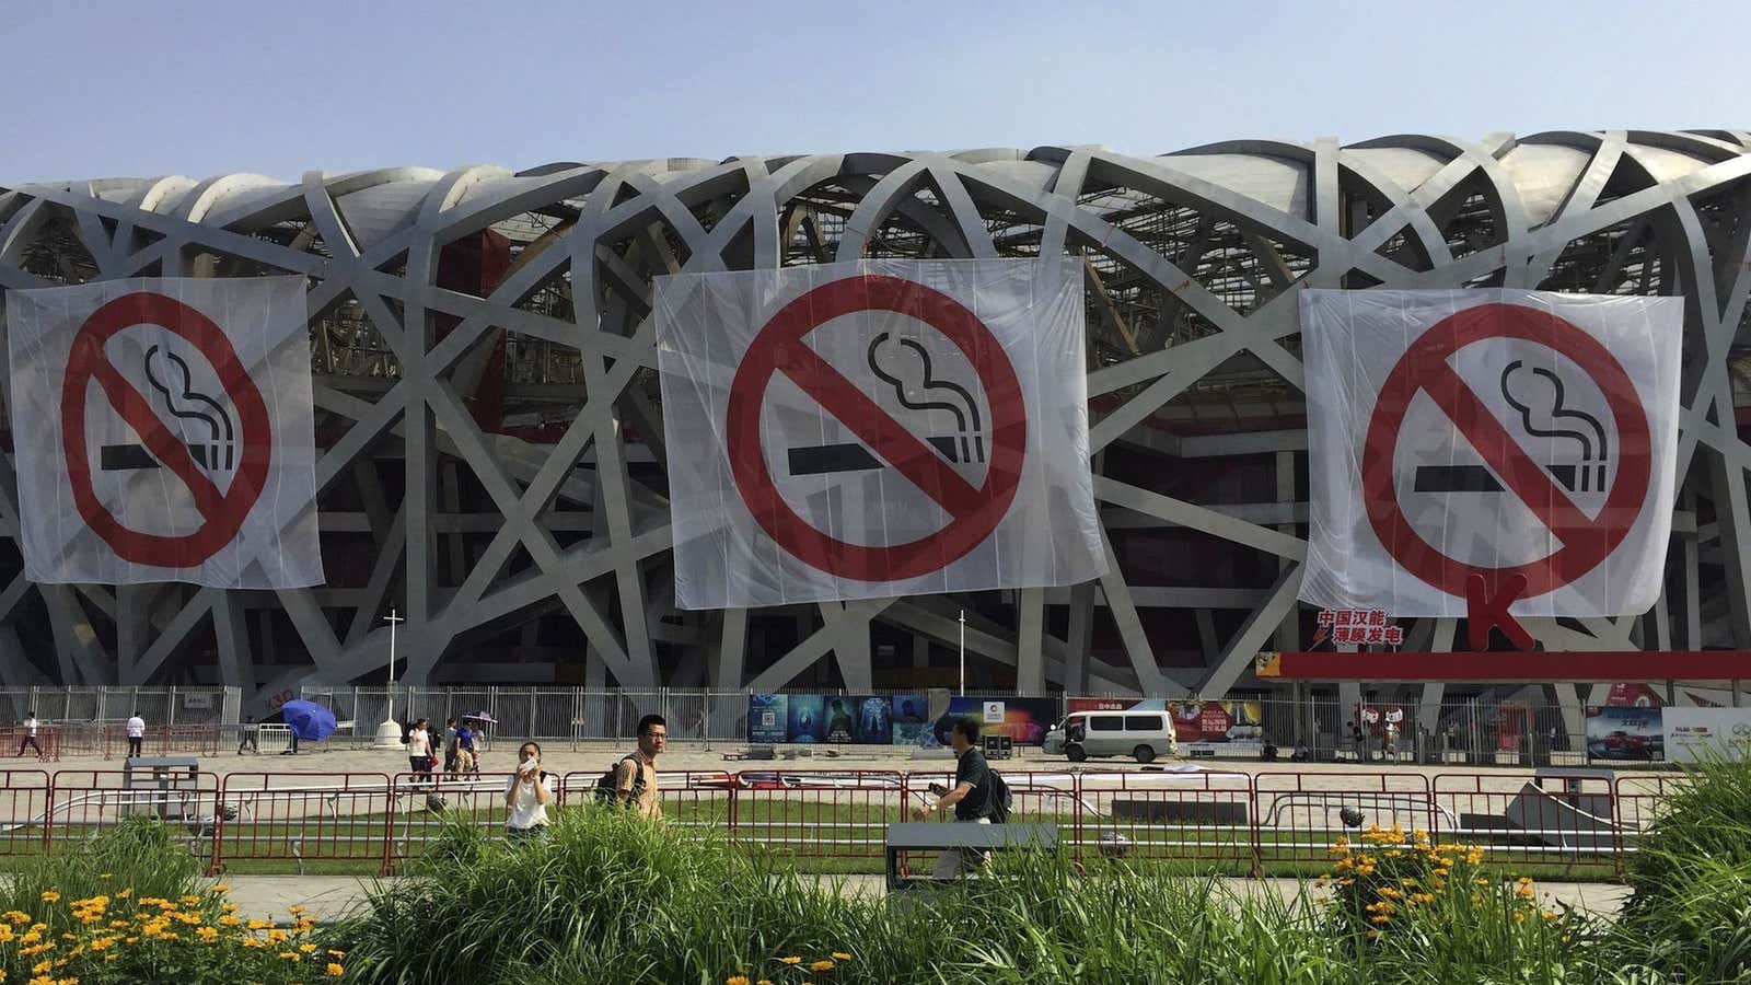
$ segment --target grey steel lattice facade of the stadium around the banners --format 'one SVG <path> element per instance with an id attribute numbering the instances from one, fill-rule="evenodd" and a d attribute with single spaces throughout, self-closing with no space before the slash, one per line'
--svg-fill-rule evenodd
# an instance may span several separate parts
<path id="1" fill-rule="evenodd" d="M 1735 386 L 1747 175 L 1751 133 L 1557 131 L 0 189 L 0 289 L 308 277 L 331 582 L 28 584 L 7 459 L 0 680 L 226 684 L 263 701 L 380 678 L 380 617 L 396 606 L 410 682 L 912 687 L 953 682 L 965 610 L 984 687 L 1254 689 L 1254 655 L 1292 648 L 1311 624 L 1296 605 L 1303 286 L 1684 296 L 1667 592 L 1641 619 L 1529 627 L 1551 650 L 1747 647 L 1751 452 Z M 653 275 L 1056 252 L 1086 270 L 1110 575 L 1066 591 L 672 608 Z M 1410 626 L 1411 647 L 1452 641 L 1450 620 Z"/>

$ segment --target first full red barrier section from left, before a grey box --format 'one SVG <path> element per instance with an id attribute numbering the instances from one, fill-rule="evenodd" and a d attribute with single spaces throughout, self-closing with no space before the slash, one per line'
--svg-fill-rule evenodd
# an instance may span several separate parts
<path id="1" fill-rule="evenodd" d="M 88 838 L 130 818 L 154 818 L 180 831 L 189 850 L 208 857 L 219 776 L 196 769 L 61 769 L 49 780 L 44 845 L 77 850 Z"/>

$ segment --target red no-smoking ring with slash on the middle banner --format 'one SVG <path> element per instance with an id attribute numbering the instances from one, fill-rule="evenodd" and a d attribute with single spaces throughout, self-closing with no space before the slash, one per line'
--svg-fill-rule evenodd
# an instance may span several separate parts
<path id="1" fill-rule="evenodd" d="M 991 407 L 991 456 L 979 487 L 949 470 L 925 442 L 804 344 L 804 337 L 818 326 L 863 310 L 898 312 L 923 321 L 949 338 L 979 373 Z M 928 536 L 870 547 L 839 540 L 797 515 L 772 482 L 760 435 L 765 391 L 779 372 L 953 519 Z M 858 275 L 814 287 L 762 326 L 735 368 L 727 431 L 735 487 L 779 547 L 819 571 L 860 582 L 895 582 L 937 571 L 967 556 L 1003 521 L 1021 484 L 1028 412 L 1009 354 L 965 305 L 912 280 Z"/>

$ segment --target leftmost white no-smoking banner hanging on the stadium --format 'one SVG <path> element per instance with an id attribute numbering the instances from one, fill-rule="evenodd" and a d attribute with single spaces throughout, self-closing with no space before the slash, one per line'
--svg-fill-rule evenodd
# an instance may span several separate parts
<path id="1" fill-rule="evenodd" d="M 303 277 L 5 300 L 30 580 L 322 584 Z"/>

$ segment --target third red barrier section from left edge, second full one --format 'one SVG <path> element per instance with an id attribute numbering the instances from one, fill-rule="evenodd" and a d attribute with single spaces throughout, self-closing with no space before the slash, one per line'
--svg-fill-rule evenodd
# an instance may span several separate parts
<path id="1" fill-rule="evenodd" d="M 396 801 L 387 773 L 231 773 L 219 792 L 212 869 L 350 862 L 389 871 Z"/>

